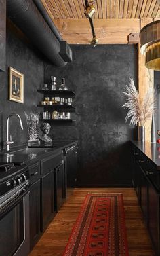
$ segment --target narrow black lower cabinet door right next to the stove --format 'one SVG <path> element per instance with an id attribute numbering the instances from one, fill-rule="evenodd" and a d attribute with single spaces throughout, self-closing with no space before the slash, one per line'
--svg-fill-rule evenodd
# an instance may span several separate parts
<path id="1" fill-rule="evenodd" d="M 30 247 L 36 244 L 40 234 L 40 180 L 30 188 Z"/>

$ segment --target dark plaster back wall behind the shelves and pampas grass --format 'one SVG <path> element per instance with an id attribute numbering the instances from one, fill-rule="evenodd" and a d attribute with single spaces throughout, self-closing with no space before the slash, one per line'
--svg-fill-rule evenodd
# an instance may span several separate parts
<path id="1" fill-rule="evenodd" d="M 54 139 L 78 139 L 79 185 L 130 185 L 127 111 L 121 91 L 133 77 L 137 84 L 138 59 L 134 45 L 71 45 L 73 62 L 62 69 L 45 65 L 45 82 L 55 75 L 66 78 L 75 96 L 76 126 L 54 126 Z M 74 103 L 73 103 L 74 105 Z"/>

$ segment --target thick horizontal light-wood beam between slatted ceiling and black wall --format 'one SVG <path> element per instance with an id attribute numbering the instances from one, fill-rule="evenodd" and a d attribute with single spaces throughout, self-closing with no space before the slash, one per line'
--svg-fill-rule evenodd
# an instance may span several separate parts
<path id="1" fill-rule="evenodd" d="M 86 19 L 54 20 L 64 40 L 69 44 L 89 44 L 92 32 Z M 139 19 L 94 19 L 94 29 L 99 44 L 127 44 L 130 33 L 140 32 Z"/>

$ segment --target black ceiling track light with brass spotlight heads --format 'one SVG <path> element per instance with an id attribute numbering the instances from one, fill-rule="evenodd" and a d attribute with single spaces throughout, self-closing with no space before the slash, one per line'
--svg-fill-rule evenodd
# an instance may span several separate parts
<path id="1" fill-rule="evenodd" d="M 96 0 L 93 0 L 90 3 L 95 3 L 95 1 Z M 94 24 L 92 21 L 92 16 L 94 15 L 94 13 L 95 13 L 94 5 L 93 4 L 89 5 L 88 0 L 85 0 L 85 13 L 84 14 L 87 18 L 89 18 L 90 26 L 92 29 L 92 36 L 93 36 L 92 40 L 90 41 L 90 44 L 95 47 L 98 43 L 98 39 L 96 39 L 96 33 L 94 31 Z"/>

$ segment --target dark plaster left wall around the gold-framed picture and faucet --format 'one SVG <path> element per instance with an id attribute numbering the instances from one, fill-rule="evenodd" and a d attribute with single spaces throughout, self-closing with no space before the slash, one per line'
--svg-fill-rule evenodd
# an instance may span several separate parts
<path id="1" fill-rule="evenodd" d="M 7 116 L 13 112 L 18 113 L 22 117 L 24 130 L 20 130 L 16 117 L 11 118 L 9 125 L 15 146 L 23 144 L 28 139 L 24 111 L 27 113 L 37 111 L 37 102 L 39 101 L 37 88 L 43 84 L 44 69 L 41 56 L 9 21 L 7 22 L 6 56 L 6 72 L 0 73 L 0 141 L 6 141 Z M 24 104 L 8 100 L 9 67 L 24 74 Z"/>

